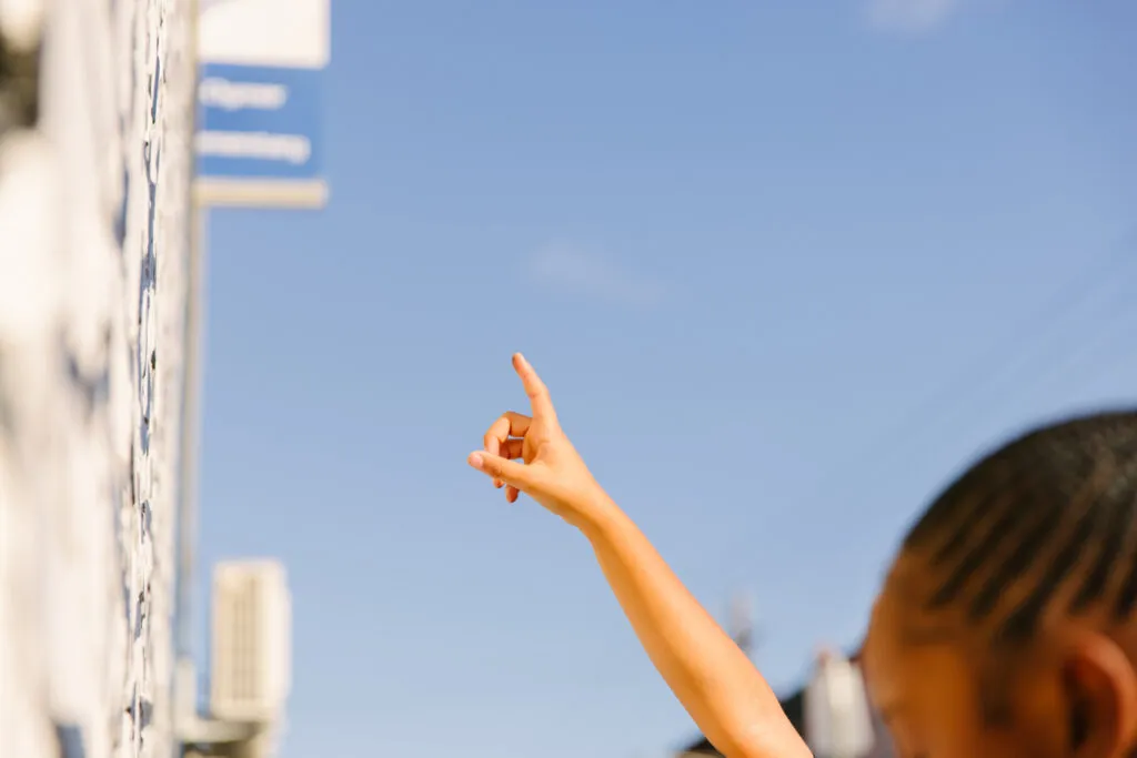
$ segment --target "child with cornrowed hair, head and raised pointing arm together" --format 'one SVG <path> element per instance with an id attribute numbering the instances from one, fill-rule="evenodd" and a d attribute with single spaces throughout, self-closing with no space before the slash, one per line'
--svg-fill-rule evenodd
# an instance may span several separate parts
<path id="1" fill-rule="evenodd" d="M 592 478 L 537 373 L 468 463 L 591 543 L 652 661 L 729 758 L 807 758 L 762 675 Z M 863 649 L 902 758 L 1137 756 L 1137 413 L 1037 430 L 923 514 Z"/>

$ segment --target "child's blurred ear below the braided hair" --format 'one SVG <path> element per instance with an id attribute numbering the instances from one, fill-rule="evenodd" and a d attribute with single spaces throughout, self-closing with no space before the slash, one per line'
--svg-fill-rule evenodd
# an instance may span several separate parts
<path id="1" fill-rule="evenodd" d="M 1062 666 L 1068 750 L 1077 758 L 1124 758 L 1137 740 L 1137 672 L 1103 634 L 1089 634 Z"/>

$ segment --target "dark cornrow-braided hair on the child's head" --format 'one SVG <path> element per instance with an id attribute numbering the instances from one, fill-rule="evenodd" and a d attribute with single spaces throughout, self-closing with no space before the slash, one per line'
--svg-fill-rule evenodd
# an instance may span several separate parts
<path id="1" fill-rule="evenodd" d="M 1020 642 L 1068 598 L 1118 619 L 1137 607 L 1137 411 L 1037 428 L 988 455 L 904 540 L 931 569 L 926 609 L 954 608 Z"/>

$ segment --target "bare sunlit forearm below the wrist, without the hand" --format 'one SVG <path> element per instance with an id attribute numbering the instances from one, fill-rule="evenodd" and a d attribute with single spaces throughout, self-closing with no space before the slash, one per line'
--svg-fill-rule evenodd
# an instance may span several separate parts
<path id="1" fill-rule="evenodd" d="M 598 495 L 600 497 L 600 495 Z M 614 503 L 582 527 L 667 685 L 728 758 L 810 755 L 766 681 Z"/>

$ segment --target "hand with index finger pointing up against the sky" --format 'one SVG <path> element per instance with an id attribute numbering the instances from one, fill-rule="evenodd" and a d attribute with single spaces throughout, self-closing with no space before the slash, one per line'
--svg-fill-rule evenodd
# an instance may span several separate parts
<path id="1" fill-rule="evenodd" d="M 513 367 L 529 395 L 532 416 L 506 413 L 490 426 L 483 450 L 470 453 L 470 465 L 505 486 L 516 502 L 524 492 L 570 524 L 582 527 L 605 501 L 575 448 L 561 431 L 545 383 L 518 352 Z M 516 459 L 521 463 L 516 463 Z"/>

